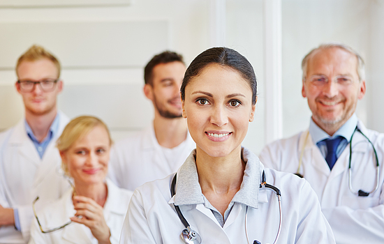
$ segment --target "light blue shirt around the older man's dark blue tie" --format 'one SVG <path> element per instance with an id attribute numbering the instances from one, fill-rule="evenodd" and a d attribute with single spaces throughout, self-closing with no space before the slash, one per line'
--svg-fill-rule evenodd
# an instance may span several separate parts
<path id="1" fill-rule="evenodd" d="M 311 122 L 309 123 L 309 134 L 311 134 L 313 143 L 318 146 L 324 158 L 327 156 L 327 144 L 324 142 L 324 140 L 328 138 L 334 139 L 339 136 L 343 137 L 339 146 L 337 146 L 336 149 L 336 156 L 337 158 L 339 158 L 341 153 L 349 144 L 350 137 L 352 137 L 352 134 L 357 126 L 357 121 L 358 119 L 356 114 L 353 114 L 352 116 L 350 116 L 348 121 L 346 121 L 346 123 L 344 123 L 344 125 L 341 126 L 341 128 L 339 128 L 339 130 L 337 130 L 337 132 L 335 132 L 334 135 L 332 135 L 331 137 L 327 134 L 327 132 L 318 127 L 318 125 L 316 125 L 316 123 L 313 122 L 313 119 L 311 118 Z"/>

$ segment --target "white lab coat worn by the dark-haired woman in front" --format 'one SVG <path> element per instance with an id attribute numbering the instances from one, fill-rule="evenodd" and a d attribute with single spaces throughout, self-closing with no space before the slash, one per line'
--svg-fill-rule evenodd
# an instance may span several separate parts
<path id="1" fill-rule="evenodd" d="M 193 151 L 194 153 L 194 151 Z M 140 186 L 133 193 L 128 207 L 126 220 L 121 233 L 121 244 L 126 243 L 184 243 L 180 234 L 185 228 L 179 220 L 173 203 L 184 194 L 187 201 L 191 185 L 198 181 L 194 155 L 191 153 L 184 165 L 177 171 L 176 195 L 171 197 L 170 185 L 174 174 Z M 265 170 L 267 183 L 281 190 L 282 228 L 277 243 L 334 243 L 330 225 L 320 210 L 315 192 L 304 179 L 273 169 L 264 169 L 257 156 L 244 148 L 246 169 L 242 188 L 246 195 L 254 198 L 257 208 L 248 206 L 247 230 L 249 241 L 273 243 L 279 228 L 279 204 L 273 190 L 258 190 L 260 175 Z M 183 171 L 191 167 L 194 173 Z M 249 164 L 254 164 L 249 171 Z M 256 175 L 251 181 L 246 179 Z M 249 182 L 248 184 L 245 182 Z M 182 185 L 184 185 L 182 187 Z M 179 188 L 180 186 L 180 188 Z M 198 186 L 200 189 L 200 185 Z M 255 192 L 256 194 L 253 194 Z M 180 193 L 178 193 L 180 192 Z M 184 192 L 184 193 L 183 193 Z M 179 195 L 178 195 L 179 194 Z M 197 196 L 201 196 L 198 192 Z M 196 195 L 193 195 L 196 196 Z M 191 199 L 195 197 L 191 196 Z M 191 200 L 193 201 L 193 200 Z M 246 204 L 235 201 L 223 227 L 216 220 L 211 209 L 205 204 L 177 204 L 184 217 L 191 224 L 191 229 L 200 234 L 202 243 L 247 243 L 245 232 Z"/>

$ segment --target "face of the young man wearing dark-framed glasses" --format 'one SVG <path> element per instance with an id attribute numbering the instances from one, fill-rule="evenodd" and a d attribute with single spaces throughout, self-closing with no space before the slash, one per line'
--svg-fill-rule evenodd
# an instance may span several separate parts
<path id="1" fill-rule="evenodd" d="M 29 80 L 37 82 L 43 79 L 58 79 L 59 71 L 49 59 L 38 59 L 37 61 L 22 61 L 17 68 L 17 77 L 19 80 Z M 54 90 L 45 92 L 40 84 L 35 84 L 31 92 L 20 91 L 20 84 L 15 84 L 17 91 L 21 94 L 24 107 L 27 113 L 34 115 L 43 115 L 56 109 L 57 95 L 61 92 L 63 84 L 61 81 L 55 84 Z"/>

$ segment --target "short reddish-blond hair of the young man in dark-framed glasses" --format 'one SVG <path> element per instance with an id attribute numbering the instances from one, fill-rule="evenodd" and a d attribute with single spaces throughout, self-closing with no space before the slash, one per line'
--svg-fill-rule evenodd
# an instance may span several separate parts
<path id="1" fill-rule="evenodd" d="M 57 68 L 57 74 L 58 74 L 57 78 L 60 77 L 61 67 L 60 67 L 59 60 L 55 56 L 53 56 L 53 54 L 45 50 L 44 47 L 41 47 L 38 45 L 33 45 L 32 47 L 29 47 L 27 52 L 24 52 L 24 54 L 22 54 L 22 56 L 20 56 L 20 58 L 17 60 L 17 63 L 16 63 L 17 77 L 19 76 L 17 74 L 17 69 L 19 68 L 20 64 L 23 61 L 38 61 L 40 59 L 49 59 L 50 61 L 52 61 L 52 63 L 54 63 L 54 66 L 56 66 Z"/>

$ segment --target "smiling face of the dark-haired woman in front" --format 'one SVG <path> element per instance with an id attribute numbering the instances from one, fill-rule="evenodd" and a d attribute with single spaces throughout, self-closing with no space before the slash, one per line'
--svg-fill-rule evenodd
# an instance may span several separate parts
<path id="1" fill-rule="evenodd" d="M 234 69 L 214 63 L 186 85 L 182 107 L 197 153 L 225 157 L 241 150 L 256 105 L 249 83 Z"/>

